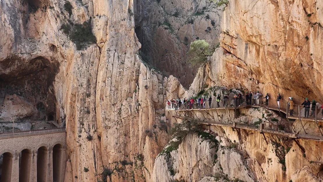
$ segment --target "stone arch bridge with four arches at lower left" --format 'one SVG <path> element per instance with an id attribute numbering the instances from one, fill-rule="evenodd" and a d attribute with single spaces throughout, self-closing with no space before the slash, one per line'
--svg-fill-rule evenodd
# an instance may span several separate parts
<path id="1" fill-rule="evenodd" d="M 0 134 L 0 182 L 63 182 L 65 128 Z"/>

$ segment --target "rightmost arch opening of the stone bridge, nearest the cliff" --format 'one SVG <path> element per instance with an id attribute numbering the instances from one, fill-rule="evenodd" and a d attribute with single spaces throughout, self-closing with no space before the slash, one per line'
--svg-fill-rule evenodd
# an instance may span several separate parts
<path id="1" fill-rule="evenodd" d="M 62 172 L 62 155 L 63 155 L 63 144 L 57 142 L 53 146 L 53 181 L 60 181 L 60 176 Z"/>

